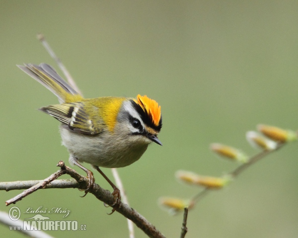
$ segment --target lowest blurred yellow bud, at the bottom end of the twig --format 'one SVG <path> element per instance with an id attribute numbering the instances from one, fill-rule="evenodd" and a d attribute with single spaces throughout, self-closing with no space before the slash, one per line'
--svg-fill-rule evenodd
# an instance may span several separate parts
<path id="1" fill-rule="evenodd" d="M 192 200 L 183 200 L 180 198 L 172 197 L 160 197 L 158 199 L 158 203 L 162 207 L 169 208 L 169 212 L 172 214 L 183 211 L 185 207 L 191 209 L 194 206 L 194 202 Z"/>

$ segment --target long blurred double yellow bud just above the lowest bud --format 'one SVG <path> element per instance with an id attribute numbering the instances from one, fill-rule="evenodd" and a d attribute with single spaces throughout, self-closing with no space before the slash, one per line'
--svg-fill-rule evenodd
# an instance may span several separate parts
<path id="1" fill-rule="evenodd" d="M 188 171 L 177 171 L 176 178 L 188 184 L 201 185 L 208 188 L 219 189 L 227 185 L 231 179 L 228 176 L 223 178 L 201 176 Z"/>

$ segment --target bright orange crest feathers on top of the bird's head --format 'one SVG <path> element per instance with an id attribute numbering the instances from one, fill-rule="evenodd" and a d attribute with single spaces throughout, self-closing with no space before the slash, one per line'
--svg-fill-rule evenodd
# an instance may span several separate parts
<path id="1" fill-rule="evenodd" d="M 153 124 L 158 126 L 161 117 L 160 106 L 158 106 L 158 103 L 146 95 L 141 96 L 139 94 L 137 99 L 138 101 L 135 100 L 135 102 L 138 103 L 149 118 L 152 119 Z"/>

